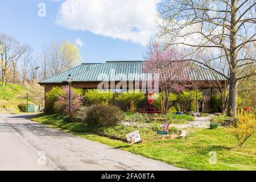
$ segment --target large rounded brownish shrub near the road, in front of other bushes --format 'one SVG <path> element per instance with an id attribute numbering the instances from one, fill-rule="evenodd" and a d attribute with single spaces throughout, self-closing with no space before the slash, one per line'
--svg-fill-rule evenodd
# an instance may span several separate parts
<path id="1" fill-rule="evenodd" d="M 86 122 L 90 126 L 114 126 L 123 119 L 119 107 L 108 105 L 94 105 L 87 111 Z"/>

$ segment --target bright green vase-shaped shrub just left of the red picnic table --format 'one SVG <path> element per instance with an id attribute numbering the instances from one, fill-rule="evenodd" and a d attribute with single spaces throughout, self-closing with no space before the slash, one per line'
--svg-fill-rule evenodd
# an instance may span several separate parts
<path id="1" fill-rule="evenodd" d="M 144 98 L 145 98 L 145 95 L 142 92 L 127 91 L 119 94 L 117 99 L 118 101 L 122 102 L 127 109 L 133 112 L 137 108 L 137 105 L 139 104 L 139 102 L 144 100 Z"/>

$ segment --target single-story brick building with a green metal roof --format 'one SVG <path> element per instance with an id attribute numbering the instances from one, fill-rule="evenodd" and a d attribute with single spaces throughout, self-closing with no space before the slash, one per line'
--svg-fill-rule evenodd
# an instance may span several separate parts
<path id="1" fill-rule="evenodd" d="M 113 89 L 115 92 L 122 92 L 129 84 L 120 84 L 119 82 L 142 82 L 148 79 L 147 73 L 143 71 L 143 61 L 106 61 L 105 63 L 82 63 L 77 67 L 67 71 L 58 73 L 39 82 L 44 86 L 44 91 L 47 93 L 53 86 L 67 84 L 67 77 L 71 75 L 72 86 L 75 88 L 97 89 L 102 82 L 112 82 L 112 84 L 104 84 L 104 89 Z M 200 81 L 199 88 L 204 93 L 203 101 L 200 104 L 200 110 L 210 112 L 210 100 L 214 94 L 214 88 L 211 82 L 224 80 L 220 75 L 216 75 L 203 66 L 196 66 L 196 69 L 189 69 L 189 79 L 191 81 Z M 113 84 L 114 82 L 114 84 Z M 119 88 L 116 89 L 119 84 Z M 223 81 L 224 84 L 224 81 Z M 216 84 L 214 84 L 216 85 Z M 141 87 L 142 85 L 139 85 Z M 45 102 L 47 104 L 47 101 Z M 123 107 L 118 101 L 113 101 L 114 105 Z M 139 107 L 144 107 L 146 101 Z"/>

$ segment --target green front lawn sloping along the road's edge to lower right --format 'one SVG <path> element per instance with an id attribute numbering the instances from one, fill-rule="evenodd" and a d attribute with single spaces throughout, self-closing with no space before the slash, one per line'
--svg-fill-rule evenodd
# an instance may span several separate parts
<path id="1" fill-rule="evenodd" d="M 92 134 L 83 123 L 63 122 L 56 115 L 32 118 L 32 120 L 176 167 L 192 170 L 256 170 L 255 134 L 243 144 L 242 148 L 237 147 L 236 138 L 230 135 L 228 128 L 223 127 L 214 130 L 189 129 L 191 134 L 183 139 L 144 140 L 142 143 L 129 145 L 119 140 Z M 77 132 L 78 129 L 81 132 Z M 211 151 L 217 154 L 217 164 L 209 164 Z"/>

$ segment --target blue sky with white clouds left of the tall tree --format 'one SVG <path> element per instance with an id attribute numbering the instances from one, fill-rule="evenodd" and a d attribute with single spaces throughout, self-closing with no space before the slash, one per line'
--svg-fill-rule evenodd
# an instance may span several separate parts
<path id="1" fill-rule="evenodd" d="M 75 43 L 82 63 L 142 60 L 160 0 L 0 0 L 0 32 L 38 56 L 52 41 Z"/>

